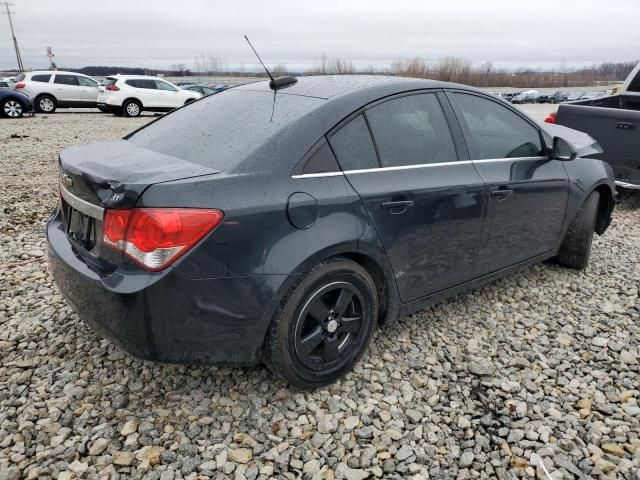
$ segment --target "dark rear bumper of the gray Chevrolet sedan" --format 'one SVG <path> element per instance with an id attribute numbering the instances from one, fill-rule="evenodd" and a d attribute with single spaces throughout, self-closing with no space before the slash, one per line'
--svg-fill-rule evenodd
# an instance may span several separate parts
<path id="1" fill-rule="evenodd" d="M 55 283 L 100 335 L 136 357 L 170 363 L 252 365 L 286 275 L 187 279 L 169 267 L 131 265 L 109 274 L 78 255 L 54 215 L 47 224 Z"/>

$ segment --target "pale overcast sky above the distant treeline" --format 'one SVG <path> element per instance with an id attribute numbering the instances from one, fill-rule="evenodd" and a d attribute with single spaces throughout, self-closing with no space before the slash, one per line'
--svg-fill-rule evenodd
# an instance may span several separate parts
<path id="1" fill-rule="evenodd" d="M 200 53 L 302 69 L 322 53 L 383 67 L 458 56 L 497 67 L 560 68 L 640 58 L 640 0 L 11 0 L 26 67 L 193 68 Z M 15 68 L 0 15 L 0 69 Z"/>

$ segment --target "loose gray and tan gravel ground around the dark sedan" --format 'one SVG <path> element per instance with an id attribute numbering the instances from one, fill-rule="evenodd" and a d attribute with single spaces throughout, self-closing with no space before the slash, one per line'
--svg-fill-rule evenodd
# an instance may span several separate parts
<path id="1" fill-rule="evenodd" d="M 640 478 L 640 195 L 584 273 L 545 264 L 378 331 L 345 379 L 144 362 L 45 271 L 61 148 L 151 117 L 0 121 L 0 480 Z M 15 135 L 14 135 L 15 134 Z"/>

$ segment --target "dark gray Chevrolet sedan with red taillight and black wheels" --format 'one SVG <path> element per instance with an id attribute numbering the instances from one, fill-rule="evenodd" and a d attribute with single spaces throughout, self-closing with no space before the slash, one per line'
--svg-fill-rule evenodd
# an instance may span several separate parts
<path id="1" fill-rule="evenodd" d="M 302 77 L 60 156 L 56 283 L 134 355 L 335 381 L 376 325 L 555 258 L 587 266 L 611 168 L 449 83 Z"/>

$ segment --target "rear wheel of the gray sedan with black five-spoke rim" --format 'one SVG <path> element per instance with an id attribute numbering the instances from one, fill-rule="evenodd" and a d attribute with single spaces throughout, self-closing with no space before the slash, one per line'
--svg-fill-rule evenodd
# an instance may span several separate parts
<path id="1" fill-rule="evenodd" d="M 377 290 L 367 271 L 345 258 L 322 262 L 276 311 L 265 363 L 297 388 L 333 383 L 360 359 L 377 318 Z"/>

